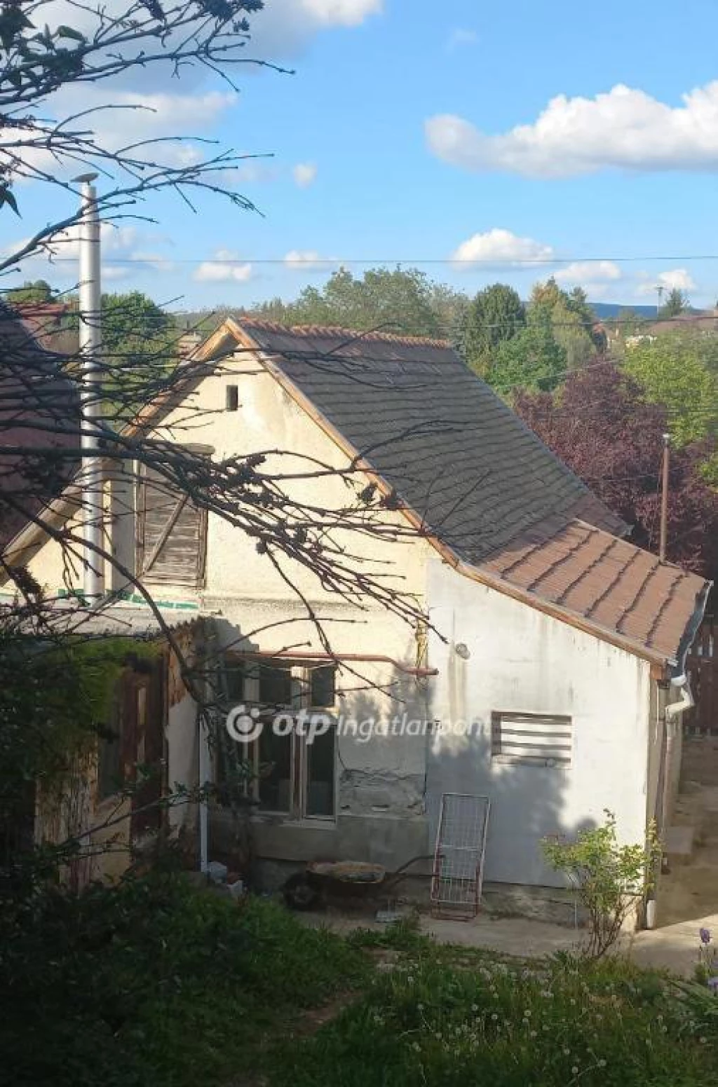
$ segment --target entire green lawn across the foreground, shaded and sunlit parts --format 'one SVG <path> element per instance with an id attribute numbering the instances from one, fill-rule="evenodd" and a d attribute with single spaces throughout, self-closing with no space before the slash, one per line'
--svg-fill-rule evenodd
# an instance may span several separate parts
<path id="1" fill-rule="evenodd" d="M 621 961 L 349 939 L 153 879 L 13 921 L 8 1082 L 35 1087 L 714 1087 L 718 999 Z"/>

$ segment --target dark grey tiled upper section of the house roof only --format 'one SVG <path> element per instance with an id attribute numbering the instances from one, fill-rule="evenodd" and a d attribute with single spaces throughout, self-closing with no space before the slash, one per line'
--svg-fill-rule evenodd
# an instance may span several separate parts
<path id="1" fill-rule="evenodd" d="M 467 561 L 550 514 L 624 529 L 445 342 L 252 320 L 242 327 Z"/>

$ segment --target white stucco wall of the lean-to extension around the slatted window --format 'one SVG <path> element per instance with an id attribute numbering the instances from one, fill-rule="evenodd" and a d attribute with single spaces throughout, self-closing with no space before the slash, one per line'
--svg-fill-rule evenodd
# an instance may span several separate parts
<path id="1" fill-rule="evenodd" d="M 474 735 L 435 737 L 428 801 L 435 825 L 442 792 L 488 796 L 485 878 L 561 884 L 543 862 L 545 835 L 572 835 L 617 816 L 624 841 L 646 825 L 649 666 L 493 589 L 429 563 L 434 715 L 475 723 Z M 454 647 L 470 652 L 461 660 Z M 491 757 L 492 711 L 565 714 L 572 721 L 570 767 L 502 763 Z"/>

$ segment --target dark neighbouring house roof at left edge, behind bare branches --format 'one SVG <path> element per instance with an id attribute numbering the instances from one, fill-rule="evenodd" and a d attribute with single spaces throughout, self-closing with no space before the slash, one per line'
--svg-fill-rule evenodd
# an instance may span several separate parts
<path id="1" fill-rule="evenodd" d="M 71 480 L 78 429 L 73 383 L 0 305 L 0 548 Z"/>

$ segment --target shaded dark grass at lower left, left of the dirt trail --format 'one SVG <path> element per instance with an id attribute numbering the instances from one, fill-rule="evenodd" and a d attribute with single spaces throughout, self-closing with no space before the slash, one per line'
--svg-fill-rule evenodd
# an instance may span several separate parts
<path id="1" fill-rule="evenodd" d="M 369 973 L 361 951 L 273 902 L 176 878 L 58 896 L 0 951 L 3 1072 L 33 1087 L 224 1087 Z"/>

